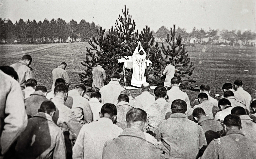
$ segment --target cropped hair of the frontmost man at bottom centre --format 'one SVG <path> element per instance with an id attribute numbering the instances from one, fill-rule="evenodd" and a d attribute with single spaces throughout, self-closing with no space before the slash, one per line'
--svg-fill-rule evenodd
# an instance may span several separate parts
<path id="1" fill-rule="evenodd" d="M 126 122 L 131 123 L 131 122 L 137 122 L 137 121 L 146 122 L 147 113 L 140 108 L 130 109 L 126 114 Z"/>

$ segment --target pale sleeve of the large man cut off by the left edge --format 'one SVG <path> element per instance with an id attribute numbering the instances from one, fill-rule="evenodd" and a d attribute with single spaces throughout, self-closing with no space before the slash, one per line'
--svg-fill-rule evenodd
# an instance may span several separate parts
<path id="1" fill-rule="evenodd" d="M 22 91 L 17 81 L 12 82 L 11 90 L 6 97 L 4 113 L 6 117 L 0 142 L 2 154 L 8 151 L 28 124 Z"/>

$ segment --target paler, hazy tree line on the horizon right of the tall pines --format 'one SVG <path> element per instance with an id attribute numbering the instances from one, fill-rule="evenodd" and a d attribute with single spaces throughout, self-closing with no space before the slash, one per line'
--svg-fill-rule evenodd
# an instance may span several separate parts
<path id="1" fill-rule="evenodd" d="M 229 31 L 227 29 L 223 29 L 220 31 L 218 29 L 214 30 L 209 28 L 207 31 L 202 28 L 199 30 L 196 29 L 196 27 L 193 27 L 191 32 L 187 32 L 186 28 L 178 27 L 176 32 L 181 34 L 185 42 L 189 42 L 191 38 L 195 38 L 198 43 L 202 43 L 204 38 L 209 38 L 208 42 L 222 41 L 223 43 L 227 43 L 227 41 L 230 41 L 232 44 L 238 44 L 239 40 L 241 40 L 244 44 L 247 44 L 248 40 L 256 39 L 256 33 L 251 30 L 241 32 L 241 30 Z M 154 33 L 154 36 L 165 39 L 167 38 L 168 33 L 170 34 L 170 30 L 165 26 L 161 26 L 157 32 Z"/>

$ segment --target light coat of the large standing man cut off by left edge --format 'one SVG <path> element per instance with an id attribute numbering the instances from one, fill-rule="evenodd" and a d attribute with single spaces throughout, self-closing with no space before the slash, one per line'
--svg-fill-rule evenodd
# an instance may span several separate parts
<path id="1" fill-rule="evenodd" d="M 1 70 L 0 90 L 0 146 L 3 155 L 26 128 L 28 118 L 20 84 Z"/>

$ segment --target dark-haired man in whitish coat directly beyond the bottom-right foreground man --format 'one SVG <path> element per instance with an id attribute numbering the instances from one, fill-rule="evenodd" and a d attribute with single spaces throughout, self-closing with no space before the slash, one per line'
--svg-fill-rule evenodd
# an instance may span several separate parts
<path id="1" fill-rule="evenodd" d="M 230 101 L 225 98 L 219 100 L 218 107 L 220 111 L 215 115 L 214 120 L 223 123 L 224 118 L 227 115 L 231 114 L 231 110 L 233 107 L 231 106 Z"/>

